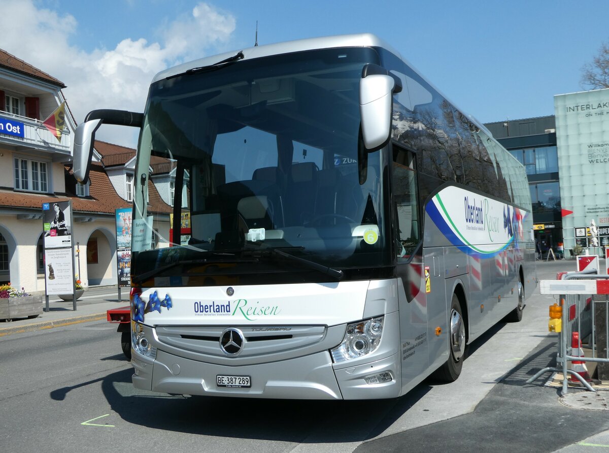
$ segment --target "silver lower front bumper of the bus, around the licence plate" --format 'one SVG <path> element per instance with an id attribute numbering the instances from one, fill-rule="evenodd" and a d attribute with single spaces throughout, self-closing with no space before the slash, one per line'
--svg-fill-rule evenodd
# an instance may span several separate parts
<path id="1" fill-rule="evenodd" d="M 260 365 L 223 366 L 158 351 L 153 363 L 133 358 L 133 385 L 163 393 L 275 399 L 396 398 L 401 391 L 400 355 L 334 369 L 328 351 Z M 389 371 L 393 380 L 368 384 L 364 377 Z M 250 388 L 217 387 L 216 375 L 250 376 Z"/>

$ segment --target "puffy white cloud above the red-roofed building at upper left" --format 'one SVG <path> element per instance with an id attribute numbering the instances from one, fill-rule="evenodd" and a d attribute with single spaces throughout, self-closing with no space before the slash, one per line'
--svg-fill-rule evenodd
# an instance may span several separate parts
<path id="1" fill-rule="evenodd" d="M 38 9 L 33 0 L 2 0 L 2 12 L 10 20 L 2 22 L 1 48 L 62 80 L 79 123 L 94 109 L 143 111 L 154 74 L 202 57 L 205 49 L 228 41 L 236 27 L 233 15 L 201 2 L 190 13 L 164 24 L 163 43 L 134 37 L 111 50 L 85 52 L 69 45 L 78 26 L 74 16 Z M 97 138 L 135 146 L 130 128 L 107 129 L 102 127 Z"/>

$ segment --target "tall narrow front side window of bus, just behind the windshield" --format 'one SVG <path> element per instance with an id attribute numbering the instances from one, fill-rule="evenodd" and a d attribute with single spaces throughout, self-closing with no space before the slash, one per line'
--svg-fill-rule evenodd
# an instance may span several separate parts
<path id="1" fill-rule="evenodd" d="M 398 262 L 410 260 L 421 240 L 418 209 L 417 163 L 415 154 L 392 144 L 392 191 L 396 216 L 396 251 Z"/>

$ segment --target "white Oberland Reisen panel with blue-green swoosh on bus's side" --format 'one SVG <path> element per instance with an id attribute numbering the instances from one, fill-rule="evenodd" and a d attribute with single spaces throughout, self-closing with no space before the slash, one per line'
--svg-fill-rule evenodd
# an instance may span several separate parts
<path id="1" fill-rule="evenodd" d="M 426 212 L 451 243 L 470 255 L 491 258 L 524 239 L 527 212 L 459 187 L 446 187 Z"/>

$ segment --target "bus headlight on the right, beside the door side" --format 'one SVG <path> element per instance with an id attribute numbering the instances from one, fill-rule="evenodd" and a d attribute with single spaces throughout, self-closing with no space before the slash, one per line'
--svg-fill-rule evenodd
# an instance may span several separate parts
<path id="1" fill-rule="evenodd" d="M 345 362 L 375 351 L 381 343 L 383 320 L 384 316 L 379 316 L 348 324 L 345 338 L 336 348 L 330 349 L 334 363 Z"/>

